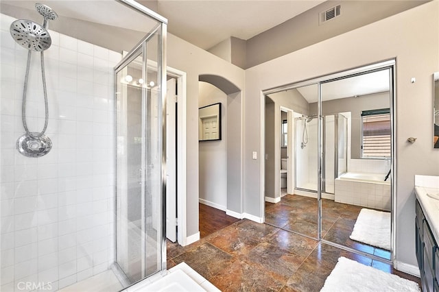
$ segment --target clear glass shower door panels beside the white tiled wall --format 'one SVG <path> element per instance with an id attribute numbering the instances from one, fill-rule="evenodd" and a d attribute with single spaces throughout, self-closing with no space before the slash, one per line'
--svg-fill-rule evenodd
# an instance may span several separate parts
<path id="1" fill-rule="evenodd" d="M 115 67 L 115 269 L 126 284 L 166 268 L 162 34 L 157 25 Z"/>

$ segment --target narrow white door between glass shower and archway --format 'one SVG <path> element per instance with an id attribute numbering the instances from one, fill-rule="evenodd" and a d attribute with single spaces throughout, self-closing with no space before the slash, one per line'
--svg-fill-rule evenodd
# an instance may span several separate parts
<path id="1" fill-rule="evenodd" d="M 166 237 L 177 240 L 176 80 L 167 81 L 166 102 Z"/>

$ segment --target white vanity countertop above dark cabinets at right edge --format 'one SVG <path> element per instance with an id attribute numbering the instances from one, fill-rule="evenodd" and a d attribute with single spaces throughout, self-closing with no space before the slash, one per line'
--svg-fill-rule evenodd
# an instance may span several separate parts
<path id="1" fill-rule="evenodd" d="M 414 184 L 416 198 L 423 208 L 431 232 L 436 241 L 439 241 L 439 200 L 427 195 L 427 193 L 439 193 L 439 176 L 415 175 Z"/>

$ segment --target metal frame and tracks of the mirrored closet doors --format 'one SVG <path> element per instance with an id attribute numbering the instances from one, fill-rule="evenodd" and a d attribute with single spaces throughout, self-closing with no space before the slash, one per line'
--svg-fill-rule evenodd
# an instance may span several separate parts
<path id="1" fill-rule="evenodd" d="M 324 142 L 324 137 L 323 137 L 323 115 L 322 115 L 322 84 L 324 83 L 328 83 L 328 82 L 333 82 L 335 80 L 342 80 L 348 77 L 353 77 L 355 75 L 363 75 L 366 73 L 371 73 L 374 71 L 383 71 L 383 70 L 388 70 L 389 71 L 389 92 L 390 92 L 390 132 L 391 132 L 391 136 L 392 136 L 392 144 L 391 144 L 391 155 L 392 155 L 392 163 L 390 166 L 390 178 L 392 181 L 391 184 L 391 223 L 390 223 L 390 236 L 391 236 L 391 240 L 390 240 L 390 253 L 391 253 L 391 257 L 390 260 L 387 260 L 385 258 L 381 258 L 379 256 L 375 256 L 374 254 L 368 254 L 366 252 L 362 252 L 360 250 L 355 250 L 351 247 L 347 247 L 344 245 L 340 245 L 337 243 L 333 243 L 331 241 L 327 241 L 325 239 L 322 239 L 322 167 L 323 167 L 323 158 L 324 158 L 324 147 L 323 147 L 323 142 Z M 276 88 L 271 88 L 268 90 L 263 90 L 261 93 L 262 97 L 265 97 L 266 95 L 270 95 L 273 93 L 279 93 L 281 91 L 284 90 L 288 90 L 288 89 L 293 89 L 293 88 L 300 88 L 303 86 L 310 86 L 313 84 L 317 84 L 318 85 L 318 171 L 316 173 L 316 175 L 318 175 L 318 191 L 317 191 L 317 200 L 318 200 L 318 230 L 317 230 L 317 238 L 313 238 L 312 236 L 307 236 L 306 234 L 300 234 L 298 232 L 294 232 L 292 230 L 287 230 L 289 232 L 294 232 L 296 234 L 300 234 L 302 236 L 305 237 L 309 237 L 310 239 L 315 239 L 317 241 L 323 242 L 323 243 L 327 243 L 328 245 L 332 245 L 335 247 L 338 247 L 342 250 L 346 250 L 348 252 L 353 252 L 355 254 L 361 254 L 363 256 L 366 256 L 368 258 L 372 258 L 372 259 L 376 259 L 376 260 L 380 260 L 384 263 L 393 263 L 395 258 L 395 250 L 396 250 L 396 234 L 394 232 L 394 230 L 396 230 L 395 228 L 395 222 L 396 222 L 396 212 L 395 212 L 395 206 L 396 206 L 396 129 L 395 129 L 395 121 L 396 121 L 396 85 L 395 85 L 395 75 L 396 75 L 396 59 L 392 58 L 392 59 L 388 59 L 388 60 L 383 60 L 383 61 L 379 61 L 379 62 L 375 62 L 372 64 L 366 64 L 364 66 L 359 66 L 356 67 L 354 69 L 346 69 L 344 71 L 339 71 L 336 73 L 332 73 L 329 75 L 323 75 L 320 77 L 316 77 L 310 80 L 305 80 L 305 81 L 300 81 L 300 82 L 295 82 L 292 84 L 287 84 L 284 86 L 278 86 Z M 263 99 L 262 99 L 263 100 Z M 262 108 L 265 109 L 265 104 L 263 102 L 261 102 Z M 305 121 L 306 122 L 306 121 Z M 262 120 L 262 129 L 265 128 L 265 124 L 264 121 Z M 265 136 L 265 130 L 263 130 L 263 136 Z M 265 152 L 265 143 L 262 144 L 263 145 L 263 153 Z M 263 160 L 262 160 L 263 161 Z M 263 162 L 263 165 L 261 167 L 261 171 L 262 171 L 262 177 L 265 177 L 265 163 Z M 264 188 L 261 188 L 262 190 Z M 263 221 L 265 221 L 265 197 L 263 194 L 263 191 L 261 192 L 261 206 L 262 206 L 262 213 L 264 216 Z"/>

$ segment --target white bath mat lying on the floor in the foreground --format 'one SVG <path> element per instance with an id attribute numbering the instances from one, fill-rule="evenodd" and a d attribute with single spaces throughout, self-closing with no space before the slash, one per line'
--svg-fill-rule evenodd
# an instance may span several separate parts
<path id="1" fill-rule="evenodd" d="M 329 274 L 322 290 L 324 292 L 377 292 L 377 291 L 420 291 L 418 283 L 401 278 L 379 269 L 368 267 L 355 260 L 338 258 L 338 263 Z"/>

